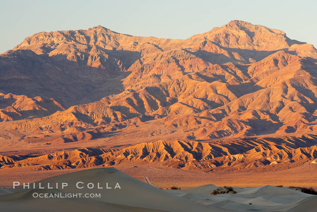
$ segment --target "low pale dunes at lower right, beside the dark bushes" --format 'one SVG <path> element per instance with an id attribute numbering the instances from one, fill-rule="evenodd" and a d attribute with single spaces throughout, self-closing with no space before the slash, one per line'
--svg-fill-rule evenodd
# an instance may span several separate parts
<path id="1" fill-rule="evenodd" d="M 304 194 L 288 188 L 263 186 L 258 188 L 234 188 L 237 194 L 210 195 L 214 185 L 199 186 L 192 189 L 166 190 L 183 198 L 208 206 L 229 211 L 316 211 L 313 206 L 317 196 Z M 208 193 L 209 191 L 209 193 Z M 240 191 L 240 192 L 239 192 Z M 190 192 L 190 193 L 188 193 Z M 249 204 L 252 203 L 252 204 Z M 304 210 L 306 211 L 306 210 Z"/>

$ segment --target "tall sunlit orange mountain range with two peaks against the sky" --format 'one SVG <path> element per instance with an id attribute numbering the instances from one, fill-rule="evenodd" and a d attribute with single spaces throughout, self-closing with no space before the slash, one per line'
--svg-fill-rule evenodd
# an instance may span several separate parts
<path id="1" fill-rule="evenodd" d="M 3 129 L 56 142 L 149 124 L 194 140 L 307 133 L 317 130 L 316 67 L 313 45 L 238 20 L 186 40 L 100 25 L 40 32 L 1 54 L 0 89 L 55 106 L 22 116 L 8 103 L 1 121 L 26 118 Z"/>

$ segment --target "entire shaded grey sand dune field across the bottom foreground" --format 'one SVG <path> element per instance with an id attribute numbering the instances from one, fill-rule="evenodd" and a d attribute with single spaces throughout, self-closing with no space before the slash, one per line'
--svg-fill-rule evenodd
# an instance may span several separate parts
<path id="1" fill-rule="evenodd" d="M 39 189 L 39 184 L 50 186 L 66 182 L 64 189 Z M 76 182 L 100 183 L 92 189 L 78 189 Z M 106 189 L 106 182 L 108 187 Z M 121 189 L 113 189 L 116 183 Z M 61 184 L 60 184 L 61 185 Z M 1 189 L 1 209 L 4 211 L 307 211 L 316 209 L 317 196 L 288 188 L 263 186 L 234 188 L 237 194 L 210 195 L 218 188 L 204 185 L 192 189 L 164 190 L 141 182 L 114 168 L 96 168 L 50 177 L 36 182 L 36 189 Z M 14 192 L 14 193 L 12 193 Z M 34 198 L 33 193 L 73 194 L 100 193 L 97 198 Z M 5 194 L 6 193 L 6 194 Z M 249 204 L 252 203 L 252 204 Z"/>

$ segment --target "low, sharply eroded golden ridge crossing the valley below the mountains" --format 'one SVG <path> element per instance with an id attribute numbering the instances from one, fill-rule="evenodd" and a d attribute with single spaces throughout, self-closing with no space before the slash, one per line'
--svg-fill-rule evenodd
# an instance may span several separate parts
<path id="1" fill-rule="evenodd" d="M 126 148 L 81 148 L 32 156 L 2 156 L 1 169 L 31 166 L 35 170 L 81 169 L 95 166 L 159 164 L 203 172 L 229 168 L 254 169 L 283 164 L 316 163 L 315 135 L 244 138 L 213 143 L 155 141 Z"/>

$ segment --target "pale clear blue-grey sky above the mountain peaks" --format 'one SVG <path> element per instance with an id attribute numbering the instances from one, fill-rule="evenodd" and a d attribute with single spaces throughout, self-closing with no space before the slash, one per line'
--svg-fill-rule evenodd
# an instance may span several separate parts
<path id="1" fill-rule="evenodd" d="M 317 1 L 0 1 L 0 53 L 41 31 L 102 25 L 135 36 L 188 37 L 243 20 L 317 47 Z"/>

